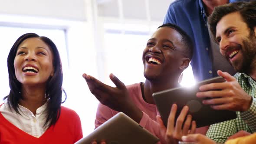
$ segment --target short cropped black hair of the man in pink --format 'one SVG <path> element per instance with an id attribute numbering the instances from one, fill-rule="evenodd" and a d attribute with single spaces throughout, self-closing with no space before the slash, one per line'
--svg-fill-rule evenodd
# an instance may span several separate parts
<path id="1" fill-rule="evenodd" d="M 158 29 L 161 27 L 170 27 L 170 28 L 176 30 L 178 33 L 180 33 L 180 35 L 182 37 L 181 42 L 182 42 L 182 45 L 184 48 L 184 55 L 191 60 L 192 56 L 193 56 L 193 51 L 194 51 L 194 44 L 193 44 L 190 36 L 179 26 L 174 25 L 172 23 L 165 23 L 165 24 L 159 26 Z"/>

